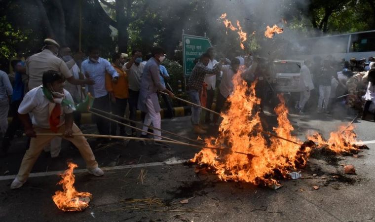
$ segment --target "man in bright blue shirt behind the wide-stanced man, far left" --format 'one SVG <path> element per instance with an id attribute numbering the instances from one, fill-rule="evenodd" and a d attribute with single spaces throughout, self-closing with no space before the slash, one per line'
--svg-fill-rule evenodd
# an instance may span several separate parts
<path id="1" fill-rule="evenodd" d="M 26 75 L 26 67 L 25 63 L 21 60 L 12 60 L 11 65 L 15 77 L 13 81 L 13 93 L 10 101 L 10 115 L 12 116 L 12 121 L 10 122 L 2 140 L 0 156 L 7 154 L 10 142 L 13 140 L 16 131 L 22 127 L 21 121 L 18 118 L 17 110 L 24 97 L 25 84 L 22 81 L 22 75 Z"/>

